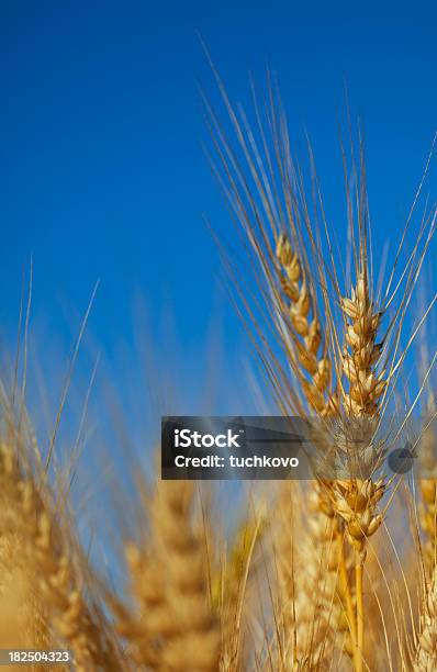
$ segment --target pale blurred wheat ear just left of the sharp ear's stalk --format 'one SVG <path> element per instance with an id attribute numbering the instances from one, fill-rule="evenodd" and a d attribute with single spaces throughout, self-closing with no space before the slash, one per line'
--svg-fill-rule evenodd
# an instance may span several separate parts
<path id="1" fill-rule="evenodd" d="M 273 526 L 277 656 L 278 667 L 287 671 L 299 665 L 329 669 L 341 638 L 343 607 L 337 598 L 341 535 L 336 516 L 321 511 L 316 490 L 310 492 L 309 506 L 302 499 L 298 485 L 283 484 Z"/>

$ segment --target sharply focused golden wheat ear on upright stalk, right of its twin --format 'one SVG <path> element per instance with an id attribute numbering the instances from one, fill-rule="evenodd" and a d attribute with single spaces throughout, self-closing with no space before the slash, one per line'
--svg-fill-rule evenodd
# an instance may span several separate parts
<path id="1" fill-rule="evenodd" d="M 346 480 L 335 481 L 333 502 L 335 511 L 345 520 L 356 552 L 357 641 L 354 660 L 357 672 L 361 672 L 365 649 L 362 581 L 366 541 L 382 523 L 378 505 L 385 492 L 383 479 L 373 481 L 366 475 L 369 472 L 371 474 L 378 463 L 378 452 L 369 452 L 368 444 L 374 430 L 374 423 L 370 418 L 378 415 L 379 399 L 386 385 L 382 374 L 376 372 L 382 349 L 376 341 L 381 312 L 376 310 L 370 299 L 369 276 L 362 257 L 356 287 L 352 288 L 350 299 L 341 299 L 341 310 L 346 320 L 344 373 L 349 382 L 348 391 L 343 389 L 343 404 L 352 422 L 345 422 L 337 446 L 347 456 L 349 473 Z M 357 451 L 357 438 L 362 440 L 363 451 Z"/>

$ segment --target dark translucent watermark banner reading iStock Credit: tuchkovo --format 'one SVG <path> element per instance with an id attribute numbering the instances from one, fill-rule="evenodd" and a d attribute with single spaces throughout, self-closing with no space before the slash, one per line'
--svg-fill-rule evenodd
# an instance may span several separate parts
<path id="1" fill-rule="evenodd" d="M 327 427 L 301 417 L 165 416 L 161 478 L 328 480 L 414 470 L 414 444 L 401 433 L 393 439 L 390 432 L 374 421 Z"/>

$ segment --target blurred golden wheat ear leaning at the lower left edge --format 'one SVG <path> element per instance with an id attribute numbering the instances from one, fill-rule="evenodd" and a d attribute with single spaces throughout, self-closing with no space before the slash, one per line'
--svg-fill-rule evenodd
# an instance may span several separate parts
<path id="1" fill-rule="evenodd" d="M 63 642 L 72 652 L 77 670 L 122 669 L 104 617 L 83 597 L 47 486 L 36 484 L 20 469 L 15 451 L 4 441 L 0 445 L 0 480 L 1 534 L 20 538 L 38 608 L 53 630 L 52 642 Z"/>

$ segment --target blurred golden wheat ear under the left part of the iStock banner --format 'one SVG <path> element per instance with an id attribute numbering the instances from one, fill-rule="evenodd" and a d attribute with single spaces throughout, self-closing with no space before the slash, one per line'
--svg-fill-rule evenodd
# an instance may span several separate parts
<path id="1" fill-rule="evenodd" d="M 192 488 L 159 481 L 150 506 L 152 539 L 126 546 L 138 612 L 114 605 L 120 632 L 141 665 L 173 672 L 216 671 L 220 629 L 206 582 L 201 536 L 192 529 Z"/>

